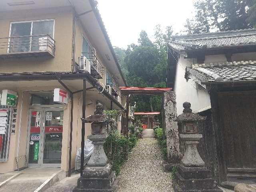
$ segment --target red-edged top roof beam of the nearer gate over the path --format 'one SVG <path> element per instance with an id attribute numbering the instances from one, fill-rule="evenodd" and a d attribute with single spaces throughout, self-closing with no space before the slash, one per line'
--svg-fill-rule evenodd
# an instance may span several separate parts
<path id="1" fill-rule="evenodd" d="M 166 91 L 171 91 L 172 88 L 154 88 L 154 87 L 119 87 L 122 94 L 137 94 L 137 95 L 162 95 Z"/>

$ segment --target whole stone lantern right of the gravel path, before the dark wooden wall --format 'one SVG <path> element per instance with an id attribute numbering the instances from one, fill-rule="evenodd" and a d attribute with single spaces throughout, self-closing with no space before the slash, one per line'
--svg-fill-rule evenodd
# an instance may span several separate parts
<path id="1" fill-rule="evenodd" d="M 222 192 L 211 178 L 210 170 L 205 167 L 197 150 L 197 144 L 202 138 L 202 134 L 198 133 L 198 122 L 205 120 L 205 117 L 192 113 L 189 102 L 184 102 L 183 107 L 183 113 L 175 121 L 178 122 L 180 140 L 184 141 L 186 150 L 174 178 L 174 191 Z"/>

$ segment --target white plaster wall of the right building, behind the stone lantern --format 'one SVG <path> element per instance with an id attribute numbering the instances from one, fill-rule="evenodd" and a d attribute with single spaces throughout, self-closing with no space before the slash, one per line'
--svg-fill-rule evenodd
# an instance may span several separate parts
<path id="1" fill-rule="evenodd" d="M 195 59 L 194 59 L 195 61 Z M 180 58 L 176 69 L 176 79 L 174 90 L 176 92 L 177 115 L 183 111 L 182 104 L 190 102 L 193 111 L 200 110 L 205 107 L 210 107 L 210 96 L 206 89 L 196 89 L 196 84 L 193 80 L 184 78 L 185 69 L 193 64 L 193 59 Z"/>

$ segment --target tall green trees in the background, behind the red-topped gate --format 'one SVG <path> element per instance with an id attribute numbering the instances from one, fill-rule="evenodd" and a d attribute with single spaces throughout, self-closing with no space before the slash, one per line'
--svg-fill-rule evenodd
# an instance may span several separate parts
<path id="1" fill-rule="evenodd" d="M 154 41 L 142 30 L 138 44 L 130 44 L 126 50 L 114 48 L 128 86 L 165 87 L 167 42 L 172 37 L 172 27 L 162 32 L 160 25 L 154 29 Z M 131 105 L 136 101 L 135 111 L 161 111 L 160 96 L 134 95 Z M 161 117 L 160 117 L 161 120 Z"/>

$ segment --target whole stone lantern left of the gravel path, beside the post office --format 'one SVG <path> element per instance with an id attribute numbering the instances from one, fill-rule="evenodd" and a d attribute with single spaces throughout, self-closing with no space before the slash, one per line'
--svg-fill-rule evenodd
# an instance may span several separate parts
<path id="1" fill-rule="evenodd" d="M 111 120 L 103 114 L 103 105 L 100 103 L 96 105 L 94 115 L 81 119 L 83 123 L 92 123 L 92 134 L 88 136 L 88 139 L 92 140 L 94 150 L 73 192 L 115 191 L 118 181 L 116 180 L 116 174 L 112 171 L 112 165 L 108 162 L 103 148 L 103 144 L 108 137 L 106 125 Z"/>

